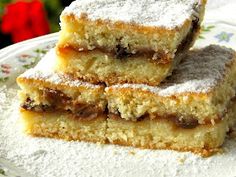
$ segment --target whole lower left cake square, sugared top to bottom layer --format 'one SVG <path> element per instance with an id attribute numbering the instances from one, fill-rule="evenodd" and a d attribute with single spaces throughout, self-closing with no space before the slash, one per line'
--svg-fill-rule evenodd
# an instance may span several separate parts
<path id="1" fill-rule="evenodd" d="M 54 62 L 52 50 L 17 78 L 24 130 L 34 136 L 104 143 L 105 87 L 56 73 Z"/>

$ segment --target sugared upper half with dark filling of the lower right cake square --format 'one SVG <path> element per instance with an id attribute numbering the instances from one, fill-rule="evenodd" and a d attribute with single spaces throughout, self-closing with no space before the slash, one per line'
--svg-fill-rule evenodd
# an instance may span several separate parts
<path id="1" fill-rule="evenodd" d="M 159 86 L 117 84 L 107 87 L 110 113 L 126 120 L 166 117 L 182 127 L 214 124 L 235 96 L 236 57 L 232 49 L 210 45 L 193 50 Z"/>

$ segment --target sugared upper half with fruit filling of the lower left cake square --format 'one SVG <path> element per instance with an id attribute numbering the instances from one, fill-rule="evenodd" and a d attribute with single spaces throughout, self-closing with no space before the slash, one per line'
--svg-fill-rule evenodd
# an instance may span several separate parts
<path id="1" fill-rule="evenodd" d="M 95 85 L 54 71 L 55 50 L 51 50 L 33 69 L 17 78 L 22 107 L 25 109 L 64 109 L 103 112 L 106 108 L 104 85 Z M 41 107 L 41 108 L 40 108 Z"/>

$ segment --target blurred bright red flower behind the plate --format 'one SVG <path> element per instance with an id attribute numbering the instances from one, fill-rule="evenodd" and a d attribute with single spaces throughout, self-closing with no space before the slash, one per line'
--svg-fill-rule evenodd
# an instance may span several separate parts
<path id="1" fill-rule="evenodd" d="M 40 0 L 19 0 L 6 6 L 2 17 L 2 32 L 20 42 L 49 33 L 49 24 Z"/>

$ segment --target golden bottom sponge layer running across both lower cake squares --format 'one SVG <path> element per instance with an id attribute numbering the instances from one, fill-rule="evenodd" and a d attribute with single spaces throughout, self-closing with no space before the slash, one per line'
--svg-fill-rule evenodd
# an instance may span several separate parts
<path id="1" fill-rule="evenodd" d="M 220 150 L 226 133 L 234 124 L 234 114 L 215 125 L 183 129 L 170 120 L 145 118 L 126 121 L 113 114 L 94 119 L 79 118 L 67 112 L 33 112 L 21 109 L 24 130 L 33 136 L 98 143 L 110 143 L 147 149 L 191 151 L 209 156 Z"/>

